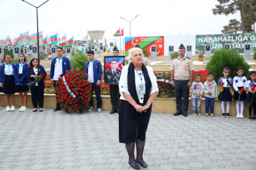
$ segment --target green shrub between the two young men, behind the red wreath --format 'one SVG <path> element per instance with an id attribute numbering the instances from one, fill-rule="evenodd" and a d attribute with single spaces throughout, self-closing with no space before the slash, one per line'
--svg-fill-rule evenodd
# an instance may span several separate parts
<path id="1" fill-rule="evenodd" d="M 74 56 L 71 58 L 70 63 L 72 69 L 80 69 L 81 71 L 85 70 L 85 63 L 89 61 L 89 58 L 85 53 L 81 52 L 79 49 L 76 49 Z"/>

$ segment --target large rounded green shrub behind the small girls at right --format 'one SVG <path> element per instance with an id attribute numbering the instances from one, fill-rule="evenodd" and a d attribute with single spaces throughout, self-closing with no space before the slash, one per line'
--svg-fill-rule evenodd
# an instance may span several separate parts
<path id="1" fill-rule="evenodd" d="M 248 78 L 250 65 L 244 61 L 244 58 L 236 52 L 234 49 L 223 48 L 216 50 L 212 59 L 206 65 L 206 69 L 214 74 L 214 80 L 217 81 L 223 76 L 223 68 L 228 67 L 229 78 L 234 78 L 236 76 L 236 69 L 238 67 L 244 68 L 244 76 Z"/>

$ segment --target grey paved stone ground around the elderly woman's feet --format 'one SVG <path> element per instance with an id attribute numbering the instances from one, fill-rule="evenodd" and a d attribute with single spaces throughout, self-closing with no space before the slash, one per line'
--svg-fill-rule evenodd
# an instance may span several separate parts
<path id="1" fill-rule="evenodd" d="M 118 115 L 0 111 L 0 169 L 130 169 Z M 148 169 L 256 169 L 256 120 L 152 114 Z"/>

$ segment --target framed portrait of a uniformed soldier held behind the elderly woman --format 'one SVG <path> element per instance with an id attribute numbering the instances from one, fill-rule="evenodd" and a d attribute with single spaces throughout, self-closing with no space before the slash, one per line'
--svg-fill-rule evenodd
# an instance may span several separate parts
<path id="1" fill-rule="evenodd" d="M 105 84 L 119 84 L 125 56 L 104 56 Z"/>

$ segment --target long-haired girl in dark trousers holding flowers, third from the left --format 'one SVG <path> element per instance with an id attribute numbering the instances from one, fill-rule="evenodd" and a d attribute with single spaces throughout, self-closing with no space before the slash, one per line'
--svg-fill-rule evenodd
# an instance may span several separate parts
<path id="1" fill-rule="evenodd" d="M 29 82 L 34 82 L 35 77 L 41 73 L 44 73 L 45 78 L 47 73 L 44 70 L 44 67 L 40 65 L 38 58 L 32 58 L 26 72 L 26 77 L 29 78 Z M 44 106 L 44 87 L 44 80 L 36 81 L 29 86 L 31 91 L 31 101 L 33 103 L 33 112 L 37 111 L 38 106 L 39 111 L 43 112 L 42 107 Z"/>

